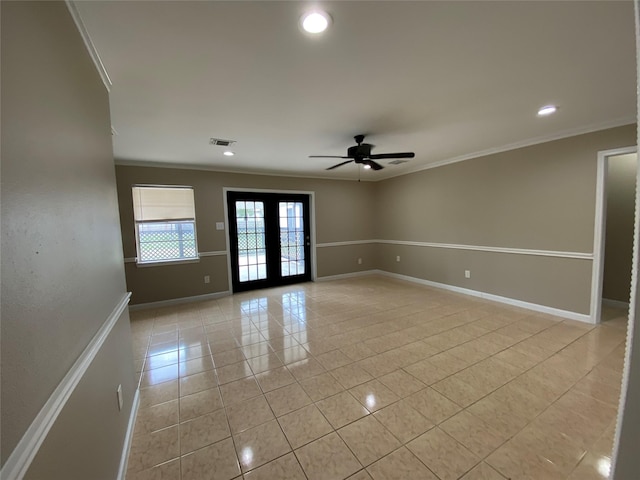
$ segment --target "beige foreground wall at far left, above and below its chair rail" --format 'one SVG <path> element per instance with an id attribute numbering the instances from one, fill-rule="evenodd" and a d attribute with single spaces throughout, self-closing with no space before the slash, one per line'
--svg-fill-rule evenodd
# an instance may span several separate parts
<path id="1" fill-rule="evenodd" d="M 107 91 L 64 2 L 2 2 L 1 12 L 5 465 L 126 290 Z M 75 461 L 39 478 L 115 478 L 134 392 L 126 312 L 106 345 L 90 366 L 104 376 L 89 380 L 95 389 L 81 380 L 52 429 L 77 435 L 45 439 L 38 468 Z"/>

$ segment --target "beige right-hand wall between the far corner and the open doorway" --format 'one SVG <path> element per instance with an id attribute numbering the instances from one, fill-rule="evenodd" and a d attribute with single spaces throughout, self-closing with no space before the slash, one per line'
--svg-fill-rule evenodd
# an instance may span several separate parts
<path id="1" fill-rule="evenodd" d="M 590 254 L 597 152 L 635 141 L 630 125 L 380 182 L 376 238 Z M 387 244 L 379 252 L 383 270 L 589 313 L 588 259 Z"/>

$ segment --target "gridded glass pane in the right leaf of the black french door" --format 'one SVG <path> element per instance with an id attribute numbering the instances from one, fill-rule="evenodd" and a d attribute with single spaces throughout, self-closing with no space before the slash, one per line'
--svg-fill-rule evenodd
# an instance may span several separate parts
<path id="1" fill-rule="evenodd" d="M 278 203 L 282 276 L 303 275 L 305 238 L 302 202 Z"/>

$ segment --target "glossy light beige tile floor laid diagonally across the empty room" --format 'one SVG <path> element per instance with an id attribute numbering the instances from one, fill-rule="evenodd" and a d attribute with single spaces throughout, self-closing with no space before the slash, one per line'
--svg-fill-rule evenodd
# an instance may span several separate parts
<path id="1" fill-rule="evenodd" d="M 380 276 L 131 314 L 128 480 L 606 478 L 598 327 Z"/>

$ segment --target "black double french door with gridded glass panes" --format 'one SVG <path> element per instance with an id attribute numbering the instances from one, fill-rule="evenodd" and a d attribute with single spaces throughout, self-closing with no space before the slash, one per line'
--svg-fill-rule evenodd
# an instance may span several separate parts
<path id="1" fill-rule="evenodd" d="M 311 280 L 309 196 L 227 192 L 234 292 Z"/>

